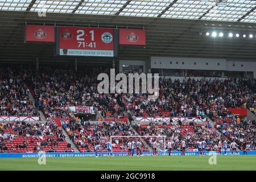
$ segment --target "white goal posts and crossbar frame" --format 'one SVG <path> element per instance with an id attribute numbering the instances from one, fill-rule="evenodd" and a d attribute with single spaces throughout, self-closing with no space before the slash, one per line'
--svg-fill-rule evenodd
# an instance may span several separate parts
<path id="1" fill-rule="evenodd" d="M 111 145 L 113 144 L 113 139 L 114 138 L 119 138 L 119 139 L 123 139 L 126 138 L 129 140 L 130 139 L 144 139 L 144 141 L 146 142 L 146 140 L 154 140 L 154 139 L 158 139 L 158 146 L 157 146 L 157 150 L 158 150 L 158 155 L 166 155 L 166 137 L 165 135 L 161 135 L 161 136 L 119 136 L 119 135 L 110 135 L 110 143 Z M 162 138 L 162 139 L 161 139 Z M 141 142 L 143 143 L 143 142 Z M 147 143 L 147 142 L 146 142 Z M 124 143 L 126 148 L 127 148 L 127 142 Z M 148 144 L 148 143 L 147 143 Z M 148 150 L 150 152 L 152 152 L 152 146 L 150 146 L 150 144 L 148 145 L 150 148 L 148 148 Z"/>

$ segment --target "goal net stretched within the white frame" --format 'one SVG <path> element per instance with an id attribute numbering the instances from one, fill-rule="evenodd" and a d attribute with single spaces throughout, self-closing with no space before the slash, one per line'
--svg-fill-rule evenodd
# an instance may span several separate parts
<path id="1" fill-rule="evenodd" d="M 113 152 L 126 152 L 128 155 L 131 143 L 134 155 L 166 155 L 167 151 L 166 136 L 110 136 L 110 143 Z"/>

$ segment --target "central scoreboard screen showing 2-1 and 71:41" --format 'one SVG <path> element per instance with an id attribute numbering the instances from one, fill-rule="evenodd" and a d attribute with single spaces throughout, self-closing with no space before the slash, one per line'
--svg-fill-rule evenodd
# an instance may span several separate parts
<path id="1" fill-rule="evenodd" d="M 114 57 L 114 29 L 57 27 L 56 55 Z"/>

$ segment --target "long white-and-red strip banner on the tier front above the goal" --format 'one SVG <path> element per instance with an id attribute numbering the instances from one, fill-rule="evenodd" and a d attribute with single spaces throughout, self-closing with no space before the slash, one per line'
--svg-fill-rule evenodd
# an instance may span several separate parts
<path id="1" fill-rule="evenodd" d="M 136 117 L 136 121 L 140 121 L 140 122 L 150 122 L 150 121 L 157 121 L 157 122 L 170 122 L 172 119 L 173 122 L 177 122 L 177 121 L 181 121 L 181 122 L 205 122 L 207 121 L 206 118 L 201 119 L 198 117 Z"/>

